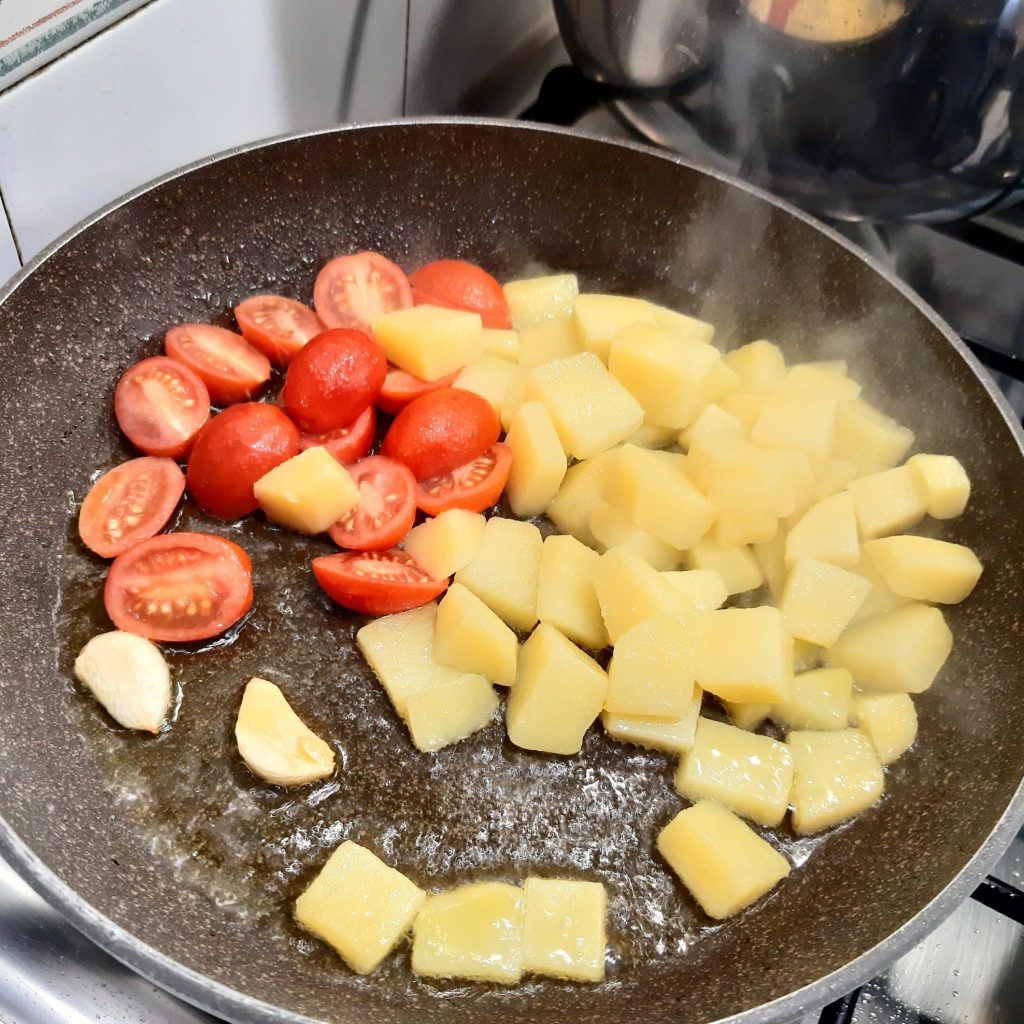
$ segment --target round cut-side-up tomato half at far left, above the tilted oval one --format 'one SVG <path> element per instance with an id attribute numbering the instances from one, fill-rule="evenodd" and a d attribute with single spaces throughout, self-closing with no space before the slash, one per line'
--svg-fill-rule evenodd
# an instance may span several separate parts
<path id="1" fill-rule="evenodd" d="M 183 362 L 154 355 L 129 367 L 118 381 L 114 415 L 139 451 L 180 459 L 210 419 L 210 393 Z"/>

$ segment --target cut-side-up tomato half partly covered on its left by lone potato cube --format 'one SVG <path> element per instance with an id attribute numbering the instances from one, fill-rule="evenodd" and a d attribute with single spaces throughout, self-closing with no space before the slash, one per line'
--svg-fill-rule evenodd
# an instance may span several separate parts
<path id="1" fill-rule="evenodd" d="M 359 504 L 328 530 L 331 540 L 354 551 L 394 547 L 416 519 L 416 477 L 382 455 L 361 459 L 348 472 L 359 488 Z"/>

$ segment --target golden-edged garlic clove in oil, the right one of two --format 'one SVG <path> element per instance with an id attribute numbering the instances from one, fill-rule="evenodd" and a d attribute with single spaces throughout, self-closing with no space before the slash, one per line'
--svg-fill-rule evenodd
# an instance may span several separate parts
<path id="1" fill-rule="evenodd" d="M 334 751 L 265 679 L 253 678 L 246 685 L 234 738 L 253 774 L 274 785 L 304 785 L 334 771 Z"/>

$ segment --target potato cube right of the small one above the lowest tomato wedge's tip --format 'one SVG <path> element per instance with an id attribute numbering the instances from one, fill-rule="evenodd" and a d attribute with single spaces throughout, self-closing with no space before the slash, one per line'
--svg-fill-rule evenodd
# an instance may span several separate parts
<path id="1" fill-rule="evenodd" d="M 476 556 L 455 574 L 515 630 L 537 622 L 537 578 L 541 568 L 541 531 L 531 522 L 495 516 L 483 527 Z"/>

